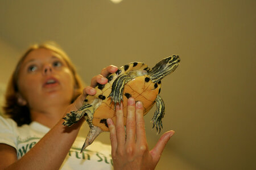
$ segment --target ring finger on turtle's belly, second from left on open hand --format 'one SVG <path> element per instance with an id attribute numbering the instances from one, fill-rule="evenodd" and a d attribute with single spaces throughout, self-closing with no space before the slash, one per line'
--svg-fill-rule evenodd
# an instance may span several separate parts
<path id="1" fill-rule="evenodd" d="M 115 122 L 115 132 L 117 133 L 117 150 L 123 147 L 125 144 L 125 127 L 123 126 L 123 107 L 122 103 L 116 107 L 116 122 Z"/>

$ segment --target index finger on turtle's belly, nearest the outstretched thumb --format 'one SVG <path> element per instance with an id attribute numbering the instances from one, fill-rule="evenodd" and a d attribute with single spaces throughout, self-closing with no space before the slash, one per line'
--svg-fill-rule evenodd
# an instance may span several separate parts
<path id="1" fill-rule="evenodd" d="M 145 124 L 143 119 L 143 104 L 141 101 L 136 103 L 136 136 L 138 143 L 147 143 Z"/>

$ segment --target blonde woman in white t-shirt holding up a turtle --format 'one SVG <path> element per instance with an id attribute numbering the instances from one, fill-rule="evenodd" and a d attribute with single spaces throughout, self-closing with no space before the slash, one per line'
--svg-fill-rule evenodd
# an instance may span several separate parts
<path id="1" fill-rule="evenodd" d="M 66 113 L 77 111 L 86 95 L 117 67 L 108 66 L 82 89 L 79 75 L 67 54 L 55 44 L 31 46 L 20 58 L 6 92 L 5 113 L 0 117 L 0 169 L 154 169 L 167 141 L 163 134 L 149 151 L 143 107 L 128 100 L 126 130 L 122 104 L 117 123 L 108 119 L 111 147 L 94 141 L 79 153 L 84 138 L 77 137 L 84 122 L 63 126 Z"/>

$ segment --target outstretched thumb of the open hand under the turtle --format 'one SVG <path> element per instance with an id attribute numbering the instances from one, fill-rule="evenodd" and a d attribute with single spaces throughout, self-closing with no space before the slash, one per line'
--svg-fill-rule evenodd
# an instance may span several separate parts
<path id="1" fill-rule="evenodd" d="M 160 159 L 160 156 L 162 155 L 162 152 L 164 150 L 164 147 L 166 146 L 169 139 L 174 135 L 175 131 L 170 130 L 167 131 L 160 137 L 158 143 L 156 143 L 155 147 L 150 151 L 150 154 L 154 160 L 155 163 L 157 163 Z"/>

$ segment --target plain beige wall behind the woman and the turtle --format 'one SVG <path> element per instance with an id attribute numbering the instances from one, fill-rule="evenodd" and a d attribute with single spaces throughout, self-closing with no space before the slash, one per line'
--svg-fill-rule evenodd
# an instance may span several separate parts
<path id="1" fill-rule="evenodd" d="M 162 81 L 163 132 L 176 134 L 158 169 L 255 169 L 255 6 L 249 0 L 2 1 L 0 53 L 55 40 L 86 83 L 110 64 L 152 67 L 179 54 L 179 68 Z M 5 82 L 15 58 L 2 58 Z M 153 113 L 145 116 L 150 147 L 159 138 L 151 130 Z"/>

